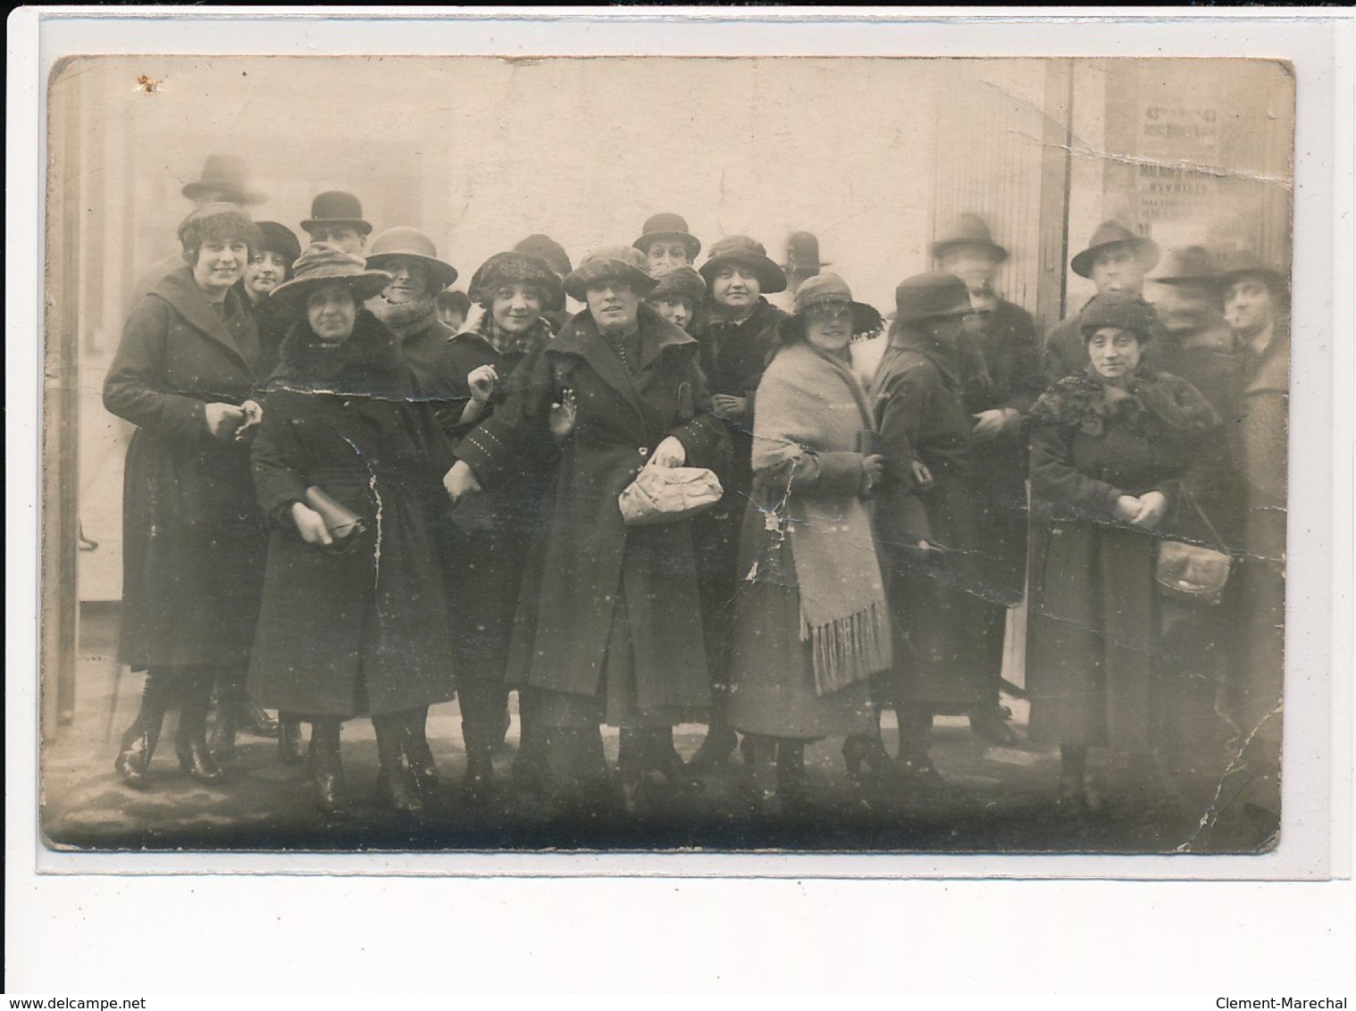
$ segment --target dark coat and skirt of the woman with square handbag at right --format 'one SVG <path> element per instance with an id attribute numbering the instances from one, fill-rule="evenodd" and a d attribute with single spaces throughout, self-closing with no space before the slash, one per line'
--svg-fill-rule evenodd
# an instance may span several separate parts
<path id="1" fill-rule="evenodd" d="M 1218 480 L 1218 419 L 1185 381 L 1155 382 L 1200 431 L 1165 424 L 1138 398 L 1104 407 L 1090 375 L 1064 378 L 1033 411 L 1026 688 L 1040 744 L 1158 747 L 1176 717 L 1173 679 L 1204 663 L 1165 638 L 1154 568 L 1159 538 L 1207 539 L 1182 507 Z M 1169 501 L 1157 530 L 1113 519 L 1121 495 L 1150 491 Z"/>

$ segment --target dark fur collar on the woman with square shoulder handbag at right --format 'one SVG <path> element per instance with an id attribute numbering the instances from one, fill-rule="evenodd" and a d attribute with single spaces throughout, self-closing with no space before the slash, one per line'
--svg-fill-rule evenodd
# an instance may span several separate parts
<path id="1" fill-rule="evenodd" d="M 1100 439 L 1108 421 L 1134 426 L 1144 415 L 1181 438 L 1204 435 L 1220 423 L 1215 408 L 1195 386 L 1142 363 L 1124 388 L 1105 382 L 1092 365 L 1064 377 L 1040 394 L 1026 424 L 1066 426 Z"/>

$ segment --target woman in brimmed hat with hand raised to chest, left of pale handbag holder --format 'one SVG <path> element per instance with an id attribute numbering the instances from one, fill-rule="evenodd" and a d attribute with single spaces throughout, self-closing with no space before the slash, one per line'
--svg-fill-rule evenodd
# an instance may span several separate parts
<path id="1" fill-rule="evenodd" d="M 545 313 L 564 306 L 560 278 L 536 256 L 499 252 L 471 279 L 471 295 L 483 316 L 473 331 L 442 346 L 442 394 L 456 407 L 456 423 L 446 428 L 460 445 L 477 424 L 503 404 L 514 382 L 549 344 L 552 327 Z M 526 363 L 526 365 L 525 365 Z M 519 373 L 519 369 L 523 371 Z M 527 550 L 548 510 L 546 492 L 560 453 L 546 432 L 523 447 L 488 493 L 488 507 L 477 529 L 460 538 L 454 596 L 462 732 L 466 741 L 464 796 L 488 800 L 495 789 L 494 747 L 507 729 L 504 667 L 527 564 Z M 523 787 L 542 786 L 546 777 L 545 744 L 530 693 L 519 690 L 521 739 L 514 778 Z"/>

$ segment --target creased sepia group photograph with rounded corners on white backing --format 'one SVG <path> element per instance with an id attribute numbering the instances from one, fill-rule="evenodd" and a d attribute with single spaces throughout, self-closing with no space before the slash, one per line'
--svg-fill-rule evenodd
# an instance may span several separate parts
<path id="1" fill-rule="evenodd" d="M 1295 95 L 60 61 L 43 843 L 1275 850 Z"/>

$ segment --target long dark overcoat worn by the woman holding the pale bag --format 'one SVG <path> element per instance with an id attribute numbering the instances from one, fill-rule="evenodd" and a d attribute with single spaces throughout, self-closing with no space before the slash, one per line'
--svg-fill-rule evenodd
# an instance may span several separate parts
<path id="1" fill-rule="evenodd" d="M 523 579 L 509 683 L 598 697 L 618 598 L 632 630 L 637 703 L 702 707 L 709 701 L 692 523 L 628 527 L 617 496 L 669 435 L 687 466 L 727 451 L 697 363 L 697 342 L 648 306 L 639 310 L 640 363 L 628 373 L 589 312 L 521 367 L 532 374 L 461 443 L 460 455 L 494 488 L 572 389 L 574 435 L 549 493 Z"/>

